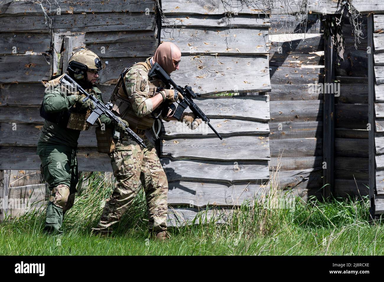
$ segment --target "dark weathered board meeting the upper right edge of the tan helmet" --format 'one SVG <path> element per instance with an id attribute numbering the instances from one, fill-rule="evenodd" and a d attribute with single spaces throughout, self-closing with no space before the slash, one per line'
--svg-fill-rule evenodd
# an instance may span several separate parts
<path id="1" fill-rule="evenodd" d="M 99 57 L 106 58 L 124 57 L 151 57 L 156 51 L 156 40 L 141 40 L 136 42 L 97 43 L 87 45 Z M 120 71 L 121 72 L 121 71 Z"/>

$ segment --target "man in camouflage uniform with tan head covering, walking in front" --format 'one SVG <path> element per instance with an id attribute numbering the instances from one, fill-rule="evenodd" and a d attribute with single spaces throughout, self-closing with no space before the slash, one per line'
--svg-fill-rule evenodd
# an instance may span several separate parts
<path id="1" fill-rule="evenodd" d="M 112 231 L 112 225 L 121 219 L 142 184 L 146 194 L 149 232 L 157 239 L 168 238 L 167 177 L 156 149 L 144 132 L 153 126 L 156 118 L 176 120 L 172 118 L 172 103 L 178 97 L 182 98 L 181 94 L 168 89 L 157 92 L 157 88 L 164 85 L 161 80 L 149 80 L 148 72 L 157 62 L 170 74 L 179 69 L 180 58 L 181 52 L 176 45 L 162 43 L 153 57 L 132 65 L 126 71 L 124 84 L 120 80 L 111 96 L 114 113 L 129 123 L 129 127 L 144 139 L 147 148 L 141 148 L 127 136 L 116 140 L 116 148 L 110 157 L 117 184 L 106 201 L 98 226 L 93 228 L 95 233 L 107 234 Z M 191 129 L 202 123 L 193 113 L 184 114 L 181 119 Z"/>

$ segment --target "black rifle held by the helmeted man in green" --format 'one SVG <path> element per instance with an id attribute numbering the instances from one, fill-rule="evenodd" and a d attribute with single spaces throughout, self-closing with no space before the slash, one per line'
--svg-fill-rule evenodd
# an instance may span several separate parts
<path id="1" fill-rule="evenodd" d="M 86 97 L 83 99 L 83 102 L 85 102 L 88 99 L 91 99 L 93 102 L 93 105 L 95 106 L 92 113 L 89 115 L 87 119 L 87 123 L 93 125 L 95 121 L 101 116 L 102 114 L 105 114 L 108 116 L 108 118 L 112 119 L 114 124 L 124 124 L 122 123 L 118 116 L 116 116 L 114 113 L 112 113 L 111 109 L 113 107 L 112 103 L 106 103 L 104 105 L 99 101 L 96 97 L 90 95 L 87 91 L 83 89 L 76 81 L 74 81 L 68 74 L 65 74 L 60 80 L 62 83 L 65 83 L 67 85 L 70 85 L 72 88 L 76 86 L 76 91 L 79 91 L 79 93 L 85 95 Z M 125 125 L 124 125 L 125 126 Z M 131 128 L 125 126 L 125 132 L 134 140 L 137 144 L 141 145 L 143 148 L 147 148 L 147 146 L 144 144 L 143 139 L 141 139 L 136 133 L 132 131 Z"/>

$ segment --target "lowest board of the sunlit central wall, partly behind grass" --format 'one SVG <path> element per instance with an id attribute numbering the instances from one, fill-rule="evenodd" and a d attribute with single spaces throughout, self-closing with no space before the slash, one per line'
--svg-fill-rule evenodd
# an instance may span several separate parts
<path id="1" fill-rule="evenodd" d="M 230 209 L 198 210 L 194 208 L 172 208 L 167 211 L 167 226 L 191 224 L 224 223 L 230 216 Z"/>

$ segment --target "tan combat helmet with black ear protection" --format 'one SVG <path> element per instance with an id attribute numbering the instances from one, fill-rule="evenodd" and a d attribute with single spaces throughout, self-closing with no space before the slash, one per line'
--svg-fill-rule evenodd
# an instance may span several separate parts
<path id="1" fill-rule="evenodd" d="M 81 80 L 87 70 L 101 70 L 101 61 L 98 55 L 83 48 L 71 56 L 67 71 L 73 72 L 74 78 Z"/>

